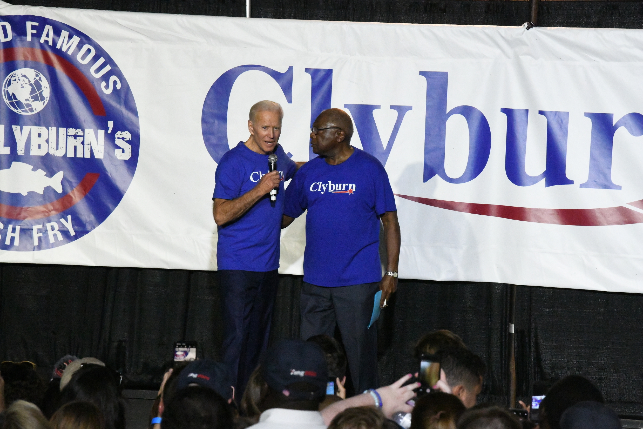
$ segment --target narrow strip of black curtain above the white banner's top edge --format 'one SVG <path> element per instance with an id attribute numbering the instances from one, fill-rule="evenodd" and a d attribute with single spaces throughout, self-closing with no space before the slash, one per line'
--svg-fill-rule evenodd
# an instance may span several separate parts
<path id="1" fill-rule="evenodd" d="M 8 0 L 54 6 L 162 14 L 246 16 L 244 0 Z M 504 0 L 252 0 L 257 18 L 370 21 L 377 23 L 520 26 L 530 19 L 529 1 Z M 643 28 L 640 1 L 541 1 L 539 25 Z"/>

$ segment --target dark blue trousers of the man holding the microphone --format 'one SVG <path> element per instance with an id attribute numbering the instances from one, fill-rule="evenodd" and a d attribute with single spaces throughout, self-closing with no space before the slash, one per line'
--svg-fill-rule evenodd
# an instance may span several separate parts
<path id="1" fill-rule="evenodd" d="M 223 362 L 232 371 L 240 401 L 250 374 L 266 350 L 279 275 L 273 271 L 220 269 Z"/>

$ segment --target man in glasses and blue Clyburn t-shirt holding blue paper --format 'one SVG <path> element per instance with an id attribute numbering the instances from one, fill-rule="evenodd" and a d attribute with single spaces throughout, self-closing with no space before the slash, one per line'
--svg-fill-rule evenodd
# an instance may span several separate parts
<path id="1" fill-rule="evenodd" d="M 321 112 L 311 129 L 309 161 L 286 190 L 285 228 L 308 210 L 301 336 L 333 336 L 340 327 L 357 392 L 379 387 L 377 326 L 369 327 L 397 287 L 400 229 L 388 175 L 374 156 L 350 145 L 353 124 L 340 109 Z M 379 226 L 384 225 L 386 272 L 381 275 Z"/>

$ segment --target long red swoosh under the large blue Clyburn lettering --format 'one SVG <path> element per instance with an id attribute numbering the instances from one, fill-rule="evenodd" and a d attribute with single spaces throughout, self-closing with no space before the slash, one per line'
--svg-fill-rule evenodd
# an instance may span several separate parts
<path id="1" fill-rule="evenodd" d="M 460 203 L 458 201 L 445 201 L 443 199 L 395 195 L 415 201 L 416 203 L 453 210 L 455 212 L 503 217 L 505 219 L 514 219 L 514 221 L 575 226 L 608 226 L 643 223 L 642 213 L 624 206 L 601 208 L 530 208 L 494 204 Z M 643 199 L 629 203 L 629 205 L 643 208 Z"/>

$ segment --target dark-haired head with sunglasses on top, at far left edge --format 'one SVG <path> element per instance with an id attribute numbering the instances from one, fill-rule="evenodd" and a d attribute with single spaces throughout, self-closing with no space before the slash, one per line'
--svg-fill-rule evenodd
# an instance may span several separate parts
<path id="1" fill-rule="evenodd" d="M 19 399 L 41 404 L 47 385 L 36 372 L 35 363 L 5 361 L 0 364 L 0 374 L 5 380 L 5 405 Z"/>

